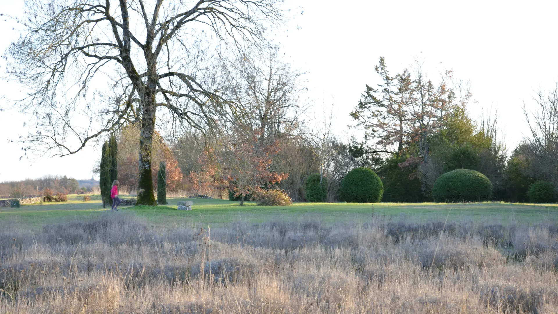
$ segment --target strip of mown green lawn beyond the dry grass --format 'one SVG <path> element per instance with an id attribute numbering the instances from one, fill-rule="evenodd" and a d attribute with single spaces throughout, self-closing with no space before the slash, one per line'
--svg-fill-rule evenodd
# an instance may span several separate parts
<path id="1" fill-rule="evenodd" d="M 127 197 L 123 197 L 127 198 Z M 192 211 L 177 211 L 179 201 L 193 201 Z M 200 225 L 231 222 L 304 221 L 364 223 L 373 216 L 387 220 L 412 220 L 416 222 L 444 221 L 466 223 L 555 223 L 558 221 L 558 204 L 511 203 L 294 203 L 288 207 L 256 206 L 248 202 L 221 199 L 171 198 L 168 206 L 123 207 L 121 211 L 134 212 L 154 225 Z M 69 196 L 65 203 L 23 205 L 21 208 L 0 208 L 0 220 L 29 227 L 57 223 L 61 219 L 84 218 L 105 212 L 99 196 L 84 202 L 83 196 Z"/>

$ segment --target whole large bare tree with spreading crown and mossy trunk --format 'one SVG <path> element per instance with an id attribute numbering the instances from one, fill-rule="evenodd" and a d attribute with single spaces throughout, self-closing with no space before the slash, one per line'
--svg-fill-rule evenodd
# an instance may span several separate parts
<path id="1" fill-rule="evenodd" d="M 140 123 L 138 204 L 156 204 L 157 108 L 200 129 L 211 127 L 220 112 L 234 112 L 228 109 L 234 103 L 204 75 L 211 70 L 207 52 L 263 42 L 266 23 L 282 20 L 279 2 L 26 1 L 26 34 L 8 55 L 11 78 L 28 88 L 21 109 L 33 113 L 39 129 L 28 146 L 74 154 L 125 123 Z M 114 90 L 112 99 L 104 96 L 107 89 Z"/>

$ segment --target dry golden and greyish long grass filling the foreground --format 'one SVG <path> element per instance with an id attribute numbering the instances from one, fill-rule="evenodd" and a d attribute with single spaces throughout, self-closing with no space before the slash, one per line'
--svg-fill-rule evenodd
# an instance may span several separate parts
<path id="1" fill-rule="evenodd" d="M 555 225 L 0 223 L 0 313 L 556 313 Z"/>

